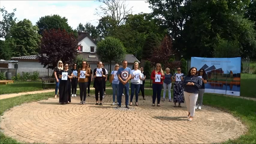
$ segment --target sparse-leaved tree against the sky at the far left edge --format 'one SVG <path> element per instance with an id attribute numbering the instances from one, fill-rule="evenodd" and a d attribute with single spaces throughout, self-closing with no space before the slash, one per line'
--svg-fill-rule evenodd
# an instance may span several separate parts
<path id="1" fill-rule="evenodd" d="M 0 19 L 0 37 L 1 38 L 9 38 L 10 37 L 10 28 L 16 23 L 17 18 L 15 17 L 16 9 L 13 9 L 12 13 L 8 13 L 5 10 L 5 7 L 0 8 L 0 12 L 2 13 L 2 19 Z"/>

